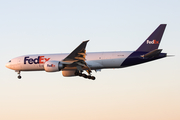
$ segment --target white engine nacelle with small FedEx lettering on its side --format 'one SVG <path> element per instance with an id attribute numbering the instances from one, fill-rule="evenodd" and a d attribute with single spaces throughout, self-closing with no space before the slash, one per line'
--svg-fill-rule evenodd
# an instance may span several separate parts
<path id="1" fill-rule="evenodd" d="M 44 64 L 44 69 L 46 72 L 57 72 L 63 69 L 63 64 L 60 61 L 47 61 Z"/>

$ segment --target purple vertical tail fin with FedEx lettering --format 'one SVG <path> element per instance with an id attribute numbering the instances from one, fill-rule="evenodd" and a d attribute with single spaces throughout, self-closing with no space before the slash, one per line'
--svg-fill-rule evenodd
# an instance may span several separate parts
<path id="1" fill-rule="evenodd" d="M 136 51 L 152 51 L 158 49 L 166 24 L 160 24 L 159 27 L 144 41 Z"/>

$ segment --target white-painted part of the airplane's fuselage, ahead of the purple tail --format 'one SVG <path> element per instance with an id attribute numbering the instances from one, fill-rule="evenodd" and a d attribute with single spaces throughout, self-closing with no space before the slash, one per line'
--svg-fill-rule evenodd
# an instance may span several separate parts
<path id="1" fill-rule="evenodd" d="M 94 69 L 120 68 L 123 61 L 132 51 L 123 52 L 91 52 L 86 55 L 86 63 Z M 49 60 L 62 61 L 68 54 L 36 54 L 24 55 L 12 59 L 6 67 L 16 71 L 44 70 L 44 63 Z M 66 68 L 68 69 L 68 68 Z M 72 68 L 71 68 L 72 69 Z"/>

